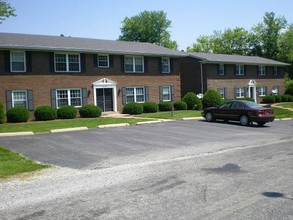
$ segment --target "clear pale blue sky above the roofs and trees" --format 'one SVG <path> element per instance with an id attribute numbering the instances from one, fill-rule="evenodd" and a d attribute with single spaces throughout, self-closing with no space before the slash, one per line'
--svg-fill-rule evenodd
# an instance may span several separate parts
<path id="1" fill-rule="evenodd" d="M 16 17 L 0 24 L 0 32 L 117 40 L 125 17 L 162 10 L 172 24 L 171 39 L 180 50 L 214 30 L 250 30 L 274 12 L 293 23 L 292 0 L 8 0 Z"/>

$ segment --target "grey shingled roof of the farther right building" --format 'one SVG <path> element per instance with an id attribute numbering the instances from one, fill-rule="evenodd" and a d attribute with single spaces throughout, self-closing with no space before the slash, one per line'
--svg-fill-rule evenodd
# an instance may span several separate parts
<path id="1" fill-rule="evenodd" d="M 225 64 L 246 64 L 246 65 L 268 65 L 268 66 L 287 66 L 290 64 L 266 59 L 257 56 L 241 56 L 212 53 L 189 53 L 193 58 L 201 60 L 203 63 L 225 63 Z"/>

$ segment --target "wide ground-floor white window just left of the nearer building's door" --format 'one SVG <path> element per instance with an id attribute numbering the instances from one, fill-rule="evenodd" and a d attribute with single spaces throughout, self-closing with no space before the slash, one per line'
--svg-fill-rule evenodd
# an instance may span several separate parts
<path id="1" fill-rule="evenodd" d="M 81 89 L 57 89 L 56 90 L 56 102 L 57 108 L 63 105 L 71 105 L 80 107 L 81 100 Z"/>

